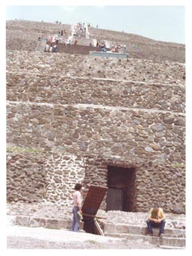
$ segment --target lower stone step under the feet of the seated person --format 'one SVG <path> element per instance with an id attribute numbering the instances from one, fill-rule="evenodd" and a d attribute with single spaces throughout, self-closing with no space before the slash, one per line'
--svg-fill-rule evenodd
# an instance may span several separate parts
<path id="1" fill-rule="evenodd" d="M 146 236 L 141 234 L 115 234 L 115 233 L 105 233 L 106 237 L 119 237 L 126 238 L 127 240 L 140 240 L 141 243 L 151 243 L 157 246 L 172 246 L 172 247 L 185 247 L 185 238 L 180 237 L 156 237 L 156 236 Z"/>

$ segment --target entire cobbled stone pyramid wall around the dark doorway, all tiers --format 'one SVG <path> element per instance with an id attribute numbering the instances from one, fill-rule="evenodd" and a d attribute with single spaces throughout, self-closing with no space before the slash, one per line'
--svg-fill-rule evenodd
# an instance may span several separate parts
<path id="1" fill-rule="evenodd" d="M 7 50 L 8 200 L 69 205 L 70 187 L 108 186 L 117 165 L 136 168 L 133 211 L 158 186 L 185 213 L 184 141 L 185 64 Z"/>

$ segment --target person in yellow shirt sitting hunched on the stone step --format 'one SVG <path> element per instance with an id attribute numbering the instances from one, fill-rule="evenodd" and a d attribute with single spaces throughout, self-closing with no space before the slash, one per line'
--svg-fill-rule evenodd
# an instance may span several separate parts
<path id="1" fill-rule="evenodd" d="M 148 219 L 146 224 L 148 227 L 149 236 L 152 236 L 152 228 L 159 228 L 158 237 L 163 237 L 164 234 L 164 225 L 165 225 L 165 216 L 164 211 L 161 207 L 154 206 L 149 211 Z"/>

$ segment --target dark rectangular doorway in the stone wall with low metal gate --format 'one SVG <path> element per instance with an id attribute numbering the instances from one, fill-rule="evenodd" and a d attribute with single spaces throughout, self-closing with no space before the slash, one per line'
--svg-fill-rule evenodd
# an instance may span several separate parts
<path id="1" fill-rule="evenodd" d="M 107 211 L 133 210 L 135 169 L 108 165 Z"/>

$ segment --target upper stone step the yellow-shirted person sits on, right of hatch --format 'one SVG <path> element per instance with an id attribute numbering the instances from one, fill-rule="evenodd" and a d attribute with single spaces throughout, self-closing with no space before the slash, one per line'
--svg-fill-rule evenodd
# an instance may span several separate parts
<path id="1" fill-rule="evenodd" d="M 143 234 L 146 235 L 148 230 L 146 227 L 142 226 L 132 226 L 132 225 L 114 225 L 114 224 L 105 224 L 104 228 L 105 233 L 116 233 L 116 234 Z M 158 236 L 159 228 L 153 228 L 153 234 Z M 176 229 L 176 228 L 166 228 L 164 231 L 165 237 L 185 237 L 185 229 Z"/>

